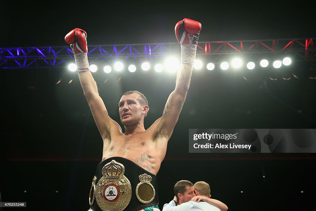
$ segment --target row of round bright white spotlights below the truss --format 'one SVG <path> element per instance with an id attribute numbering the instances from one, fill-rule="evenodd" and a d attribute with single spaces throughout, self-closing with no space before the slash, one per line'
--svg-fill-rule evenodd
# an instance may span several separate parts
<path id="1" fill-rule="evenodd" d="M 243 63 L 242 60 L 241 60 L 241 59 L 238 59 L 238 58 L 237 58 L 237 59 L 233 59 L 232 62 L 231 62 L 232 66 L 233 66 L 234 68 L 240 68 L 240 67 L 242 66 L 242 63 Z M 282 61 L 281 61 L 281 60 L 276 60 L 276 61 L 274 61 L 274 62 L 272 63 L 272 65 L 273 65 L 274 68 L 280 68 L 280 67 L 282 66 L 282 64 L 285 65 L 285 66 L 290 65 L 290 64 L 291 64 L 291 59 L 290 59 L 289 57 L 286 57 L 286 58 L 284 58 Z M 261 66 L 261 67 L 268 67 L 268 65 L 269 65 L 269 61 L 268 61 L 268 60 L 263 59 L 263 60 L 260 61 L 260 66 Z M 203 63 L 202 63 L 200 60 L 196 60 L 196 61 L 194 62 L 194 64 L 193 64 L 193 67 L 194 67 L 195 69 L 201 69 L 202 66 L 203 66 Z M 252 70 L 253 68 L 255 68 L 255 66 L 256 66 L 256 65 L 255 65 L 254 62 L 248 62 L 247 65 L 246 65 L 246 67 L 247 67 L 249 70 Z M 166 70 L 167 70 L 168 72 L 173 72 L 173 71 L 175 71 L 175 70 L 178 70 L 178 68 L 179 68 L 179 61 L 176 60 L 176 59 L 169 59 L 169 60 L 167 60 L 167 62 L 165 63 L 165 67 L 166 67 Z M 228 63 L 228 62 L 222 62 L 222 63 L 220 64 L 220 67 L 221 67 L 222 70 L 227 70 L 227 69 L 229 68 L 229 63 Z M 74 63 L 70 64 L 70 65 L 68 66 L 68 68 L 69 68 L 70 71 L 76 71 L 76 70 L 77 70 L 77 66 L 76 66 L 76 64 L 74 64 Z M 116 62 L 116 63 L 114 64 L 114 69 L 115 69 L 116 71 L 121 71 L 121 70 L 123 70 L 123 68 L 124 68 L 124 65 L 123 65 L 123 63 L 121 63 L 121 62 Z M 142 68 L 142 70 L 144 70 L 144 71 L 149 70 L 149 69 L 150 69 L 150 64 L 149 64 L 149 62 L 144 62 L 144 63 L 141 65 L 141 68 Z M 208 64 L 206 65 L 206 68 L 207 68 L 208 70 L 214 70 L 215 64 L 214 64 L 214 63 L 208 63 Z M 92 65 L 90 65 L 89 69 L 90 69 L 91 72 L 96 72 L 97 69 L 98 69 L 98 67 L 97 67 L 96 65 L 92 64 Z M 136 69 L 137 69 L 137 68 L 136 68 L 135 65 L 130 65 L 130 66 L 128 66 L 128 70 L 129 70 L 131 73 L 135 72 Z M 156 71 L 156 72 L 161 72 L 163 69 L 164 69 L 164 66 L 163 66 L 162 64 L 156 64 L 156 65 L 155 65 L 155 71 Z M 103 68 L 103 71 L 104 71 L 105 73 L 110 73 L 110 72 L 112 71 L 112 67 L 106 65 L 106 66 Z"/>

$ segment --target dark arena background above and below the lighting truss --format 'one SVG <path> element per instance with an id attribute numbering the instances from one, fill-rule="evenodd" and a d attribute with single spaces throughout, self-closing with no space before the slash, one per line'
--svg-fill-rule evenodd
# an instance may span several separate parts
<path id="1" fill-rule="evenodd" d="M 183 18 L 202 23 L 199 41 L 312 38 L 312 12 L 311 1 L 5 2 L 0 47 L 64 46 L 64 36 L 75 27 L 87 31 L 88 46 L 177 42 L 174 25 Z M 316 76 L 313 65 L 294 63 L 300 79 L 289 81 L 193 71 L 157 174 L 160 209 L 172 200 L 180 179 L 208 182 L 212 197 L 229 210 L 313 208 L 314 153 L 188 152 L 190 128 L 315 128 L 316 82 L 308 78 Z M 114 120 L 119 122 L 117 103 L 125 91 L 148 98 L 146 129 L 162 115 L 175 85 L 170 74 L 99 72 L 94 78 Z M 27 202 L 19 210 L 88 210 L 102 140 L 77 73 L 3 69 L 1 79 L 2 201 Z"/>

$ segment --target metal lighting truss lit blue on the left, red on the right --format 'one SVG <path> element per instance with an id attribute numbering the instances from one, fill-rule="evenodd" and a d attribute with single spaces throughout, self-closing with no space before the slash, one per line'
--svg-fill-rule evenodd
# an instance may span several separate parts
<path id="1" fill-rule="evenodd" d="M 314 41 L 315 38 L 199 41 L 197 57 L 216 61 L 222 55 L 274 55 L 279 59 L 290 54 L 293 62 L 316 61 Z M 179 43 L 90 45 L 88 51 L 90 64 L 129 58 L 153 61 L 168 55 L 180 58 Z M 68 45 L 0 48 L 1 69 L 67 68 L 70 63 L 74 63 L 74 56 Z"/>

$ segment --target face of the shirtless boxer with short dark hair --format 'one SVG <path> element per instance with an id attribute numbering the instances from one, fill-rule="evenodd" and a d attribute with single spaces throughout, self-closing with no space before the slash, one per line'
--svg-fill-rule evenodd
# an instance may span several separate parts
<path id="1" fill-rule="evenodd" d="M 124 126 L 137 125 L 142 120 L 143 106 L 139 103 L 139 94 L 123 95 L 119 102 L 119 114 Z"/>

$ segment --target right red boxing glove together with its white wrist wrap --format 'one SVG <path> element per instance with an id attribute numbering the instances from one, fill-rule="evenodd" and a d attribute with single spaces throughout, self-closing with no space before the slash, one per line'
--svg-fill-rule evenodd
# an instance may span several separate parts
<path id="1" fill-rule="evenodd" d="M 179 21 L 174 31 L 179 44 L 181 45 L 181 62 L 193 63 L 195 61 L 197 40 L 202 29 L 198 21 L 185 18 Z"/>

